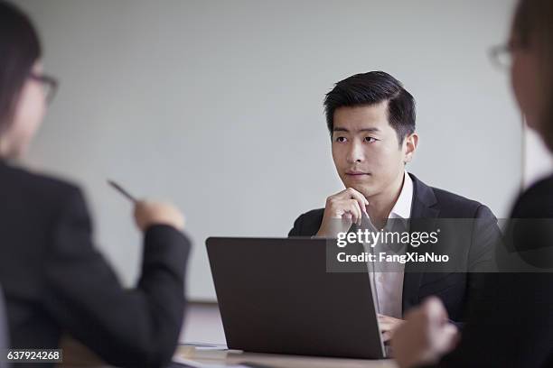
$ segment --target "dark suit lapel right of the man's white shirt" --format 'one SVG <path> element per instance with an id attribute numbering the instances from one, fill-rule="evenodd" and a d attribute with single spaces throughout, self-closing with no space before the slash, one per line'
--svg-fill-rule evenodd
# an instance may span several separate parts
<path id="1" fill-rule="evenodd" d="M 413 179 L 413 201 L 409 232 L 431 232 L 440 213 L 434 190 L 417 179 L 415 175 L 410 173 L 409 175 Z M 431 244 L 421 244 L 418 248 L 408 245 L 408 252 L 426 253 L 430 252 L 430 247 Z M 408 308 L 420 302 L 418 290 L 424 275 L 424 267 L 424 263 L 407 262 L 405 264 L 402 298 L 404 313 Z"/>

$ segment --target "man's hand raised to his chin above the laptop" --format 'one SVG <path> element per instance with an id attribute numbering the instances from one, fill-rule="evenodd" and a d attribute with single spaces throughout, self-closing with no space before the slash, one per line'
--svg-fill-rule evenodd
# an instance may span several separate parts
<path id="1" fill-rule="evenodd" d="M 363 214 L 369 216 L 367 205 L 367 198 L 352 188 L 326 198 L 323 222 L 315 236 L 336 237 L 338 233 L 348 231 L 351 224 L 361 225 Z"/>

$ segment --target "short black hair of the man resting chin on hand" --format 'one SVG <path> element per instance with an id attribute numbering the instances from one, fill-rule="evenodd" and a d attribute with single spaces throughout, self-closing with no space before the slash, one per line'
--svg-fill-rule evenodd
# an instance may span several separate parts
<path id="1" fill-rule="evenodd" d="M 334 111 L 343 106 L 372 106 L 388 101 L 388 121 L 399 144 L 415 132 L 415 99 L 398 79 L 383 71 L 370 71 L 345 78 L 324 98 L 328 130 L 333 134 Z"/>

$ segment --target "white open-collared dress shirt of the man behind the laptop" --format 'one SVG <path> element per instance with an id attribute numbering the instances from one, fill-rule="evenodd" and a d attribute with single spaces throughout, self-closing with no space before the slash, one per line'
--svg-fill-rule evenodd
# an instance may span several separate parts
<path id="1" fill-rule="evenodd" d="M 413 180 L 409 177 L 407 171 L 405 171 L 403 187 L 396 204 L 392 207 L 388 216 L 388 218 L 406 219 L 403 231 L 408 231 L 408 219 L 411 216 L 412 201 Z M 386 244 L 376 244 L 372 250 L 377 255 L 380 252 L 392 253 Z M 404 253 L 405 247 L 400 252 Z M 388 271 L 387 267 L 388 270 L 393 271 Z M 375 289 L 373 293 L 377 302 L 377 311 L 385 316 L 401 318 L 405 264 L 379 262 L 378 271 L 375 271 L 372 267 L 369 267 L 369 269 L 371 284 Z"/>

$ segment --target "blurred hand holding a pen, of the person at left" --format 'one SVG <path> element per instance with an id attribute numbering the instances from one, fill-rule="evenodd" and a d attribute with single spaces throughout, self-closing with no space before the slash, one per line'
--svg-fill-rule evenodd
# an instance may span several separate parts
<path id="1" fill-rule="evenodd" d="M 145 231 L 150 225 L 170 225 L 184 228 L 184 216 L 177 207 L 168 203 L 140 200 L 135 206 L 136 226 Z"/>

